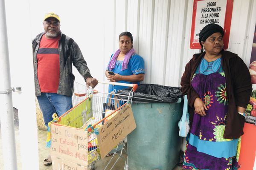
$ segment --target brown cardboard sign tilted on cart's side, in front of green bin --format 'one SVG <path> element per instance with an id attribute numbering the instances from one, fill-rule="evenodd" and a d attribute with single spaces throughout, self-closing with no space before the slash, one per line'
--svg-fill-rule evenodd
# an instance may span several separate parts
<path id="1" fill-rule="evenodd" d="M 99 128 L 97 136 L 99 150 L 104 158 L 122 139 L 136 128 L 136 123 L 131 110 L 131 105 L 123 107 L 119 114 L 108 120 Z"/>

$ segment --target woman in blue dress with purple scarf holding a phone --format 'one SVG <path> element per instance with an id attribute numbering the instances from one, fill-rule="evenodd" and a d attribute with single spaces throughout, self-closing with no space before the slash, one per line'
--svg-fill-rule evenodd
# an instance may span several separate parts
<path id="1" fill-rule="evenodd" d="M 115 75 L 108 74 L 113 71 Z M 119 49 L 112 54 L 105 75 L 111 82 L 121 82 L 140 85 L 145 74 L 144 60 L 135 53 L 133 48 L 133 37 L 130 32 L 122 32 L 119 35 Z M 125 86 L 109 85 L 108 92 L 117 92 Z"/>

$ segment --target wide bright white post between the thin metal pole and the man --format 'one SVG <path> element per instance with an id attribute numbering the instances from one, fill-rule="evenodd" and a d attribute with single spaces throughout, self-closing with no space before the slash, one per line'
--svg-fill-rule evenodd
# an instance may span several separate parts
<path id="1" fill-rule="evenodd" d="M 18 109 L 19 118 L 19 136 L 15 136 L 18 138 L 16 143 L 20 144 L 20 157 L 17 157 L 17 166 L 19 170 L 39 170 L 34 61 L 31 41 L 35 37 L 30 36 L 30 16 L 33 15 L 33 12 L 30 14 L 29 0 L 5 0 L 5 7 L 11 83 L 12 87 L 21 88 L 20 93 L 12 94 L 13 106 Z M 18 15 L 13 15 L 14 12 Z M 26 20 L 26 26 L 24 25 L 24 20 Z M 43 22 L 43 19 L 41 20 Z M 17 31 L 17 28 L 19 31 Z M 22 43 L 17 45 L 17 42 Z M 45 149 L 46 147 L 41 148 L 41 150 Z M 18 151 L 19 148 L 17 147 L 17 153 Z M 43 162 L 41 164 L 43 165 Z M 47 167 L 43 169 L 45 170 Z"/>

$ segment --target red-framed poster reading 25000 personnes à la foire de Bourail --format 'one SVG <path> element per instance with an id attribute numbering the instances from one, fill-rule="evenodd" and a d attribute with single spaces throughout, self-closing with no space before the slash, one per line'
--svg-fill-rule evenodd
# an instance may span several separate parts
<path id="1" fill-rule="evenodd" d="M 199 33 L 210 23 L 224 29 L 224 49 L 228 48 L 233 0 L 194 0 L 190 48 L 200 49 Z"/>

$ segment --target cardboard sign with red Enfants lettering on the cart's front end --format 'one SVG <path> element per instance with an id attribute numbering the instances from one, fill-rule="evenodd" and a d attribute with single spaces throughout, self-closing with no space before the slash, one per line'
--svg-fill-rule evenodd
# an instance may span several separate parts
<path id="1" fill-rule="evenodd" d="M 51 124 L 51 156 L 69 160 L 87 167 L 87 131 Z"/>

